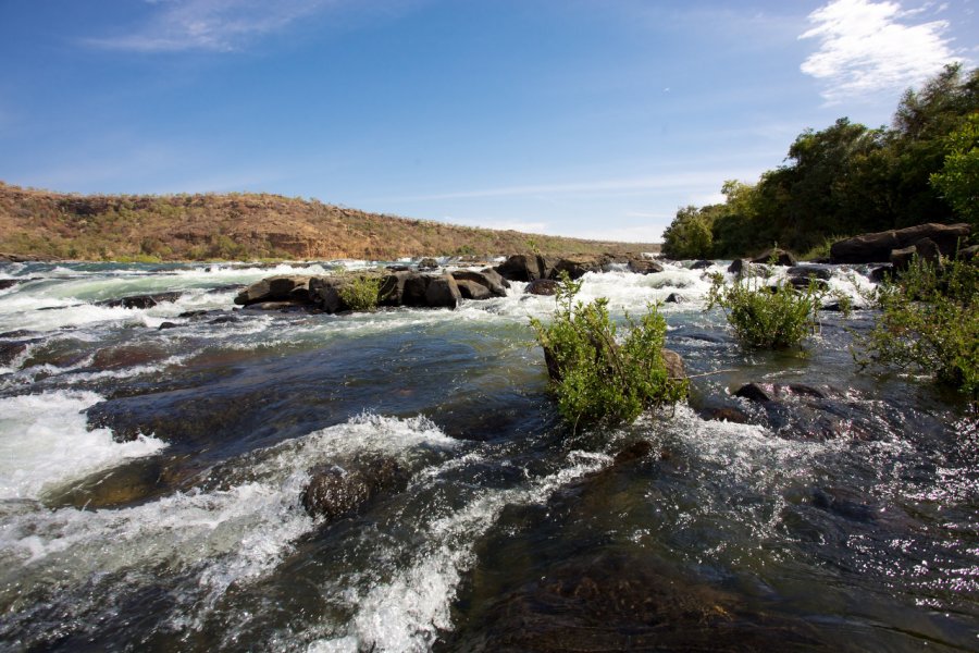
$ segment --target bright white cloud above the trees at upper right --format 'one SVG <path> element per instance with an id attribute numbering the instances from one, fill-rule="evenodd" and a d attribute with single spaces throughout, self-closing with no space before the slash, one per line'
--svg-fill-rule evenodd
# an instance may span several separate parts
<path id="1" fill-rule="evenodd" d="M 826 82 L 822 97 L 835 103 L 919 84 L 959 58 L 945 37 L 947 21 L 907 24 L 933 3 L 904 10 L 899 2 L 833 0 L 809 14 L 814 26 L 798 38 L 819 40 L 802 71 Z"/>

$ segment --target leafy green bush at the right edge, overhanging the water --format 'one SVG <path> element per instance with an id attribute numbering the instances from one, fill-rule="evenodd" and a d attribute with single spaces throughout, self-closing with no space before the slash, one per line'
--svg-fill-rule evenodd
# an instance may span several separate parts
<path id="1" fill-rule="evenodd" d="M 979 268 L 971 261 L 935 266 L 915 259 L 875 295 L 881 317 L 857 338 L 862 366 L 912 368 L 934 374 L 979 403 Z"/>

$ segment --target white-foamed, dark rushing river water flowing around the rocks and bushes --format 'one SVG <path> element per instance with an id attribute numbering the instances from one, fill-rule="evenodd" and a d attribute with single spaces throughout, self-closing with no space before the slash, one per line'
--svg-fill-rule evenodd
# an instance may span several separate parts
<path id="1" fill-rule="evenodd" d="M 681 295 L 662 311 L 694 378 L 690 405 L 574 434 L 528 324 L 554 301 L 522 284 L 455 311 L 233 310 L 240 284 L 363 264 L 0 268 L 0 648 L 979 649 L 975 419 L 858 372 L 872 311 L 746 353 L 703 271 L 587 274 L 618 317 Z M 751 381 L 826 392 L 732 396 Z M 405 486 L 303 510 L 312 468 L 376 459 Z"/>

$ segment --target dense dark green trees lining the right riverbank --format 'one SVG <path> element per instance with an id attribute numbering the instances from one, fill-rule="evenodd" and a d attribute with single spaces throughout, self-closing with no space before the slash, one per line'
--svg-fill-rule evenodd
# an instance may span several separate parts
<path id="1" fill-rule="evenodd" d="M 841 118 L 806 130 L 785 164 L 724 202 L 684 207 L 664 233 L 672 258 L 736 258 L 778 241 L 821 251 L 827 238 L 920 224 L 979 224 L 979 69 L 949 65 L 901 99 L 890 128 Z M 977 230 L 979 231 L 979 230 Z"/>

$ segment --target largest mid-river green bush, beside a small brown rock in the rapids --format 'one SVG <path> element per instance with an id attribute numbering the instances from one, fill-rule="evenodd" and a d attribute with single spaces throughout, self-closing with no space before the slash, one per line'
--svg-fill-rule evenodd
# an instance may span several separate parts
<path id="1" fill-rule="evenodd" d="M 650 305 L 637 321 L 627 316 L 628 329 L 620 341 L 608 315 L 608 299 L 575 303 L 580 288 L 581 283 L 566 273 L 552 321 L 531 319 L 565 420 L 575 430 L 614 427 L 683 398 L 687 381 L 671 379 L 667 372 L 666 320 L 656 306 Z"/>

